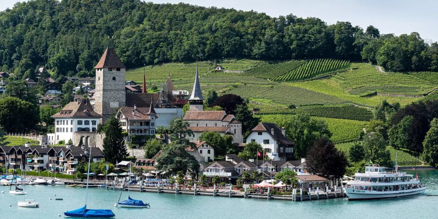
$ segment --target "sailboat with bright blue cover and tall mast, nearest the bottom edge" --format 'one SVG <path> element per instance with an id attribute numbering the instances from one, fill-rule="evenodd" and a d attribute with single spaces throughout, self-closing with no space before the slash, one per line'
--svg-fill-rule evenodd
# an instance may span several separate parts
<path id="1" fill-rule="evenodd" d="M 90 163 L 91 163 L 91 148 L 88 158 L 88 174 L 87 174 L 87 188 L 85 192 L 85 206 L 72 211 L 64 212 L 67 217 L 75 218 L 114 218 L 115 214 L 110 209 L 87 209 L 88 199 L 88 182 L 90 178 Z"/>

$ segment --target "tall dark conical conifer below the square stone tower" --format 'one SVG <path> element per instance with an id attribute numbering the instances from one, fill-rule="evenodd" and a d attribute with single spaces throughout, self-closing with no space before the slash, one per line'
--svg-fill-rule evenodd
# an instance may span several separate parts
<path id="1" fill-rule="evenodd" d="M 105 126 L 106 132 L 103 141 L 103 154 L 106 161 L 115 164 L 116 162 L 126 159 L 128 150 L 125 146 L 125 139 L 119 122 L 115 118 L 110 117 Z"/>

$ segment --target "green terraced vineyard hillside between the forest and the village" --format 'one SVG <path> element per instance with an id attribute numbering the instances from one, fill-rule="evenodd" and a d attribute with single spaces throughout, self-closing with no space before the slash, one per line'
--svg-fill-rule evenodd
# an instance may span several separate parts
<path id="1" fill-rule="evenodd" d="M 221 59 L 199 62 L 198 65 L 204 94 L 214 89 L 219 95 L 234 93 L 248 98 L 249 107 L 259 109 L 256 115 L 263 121 L 275 122 L 282 116 L 307 113 L 329 125 L 334 142 L 357 139 L 366 121 L 372 119 L 371 109 L 384 99 L 403 106 L 438 96 L 437 92 L 424 98 L 413 96 L 437 89 L 437 73 L 381 73 L 365 63 L 317 59 L 270 64 L 250 59 Z M 240 70 L 243 73 L 216 71 L 218 65 L 225 70 Z M 320 67 L 306 67 L 312 65 Z M 146 73 L 147 86 L 160 87 L 170 74 L 176 89 L 191 91 L 195 68 L 195 62 L 152 65 L 128 70 L 126 79 L 142 83 L 143 73 Z M 300 68 L 308 69 L 307 74 L 305 71 L 299 73 Z M 332 75 L 300 81 L 326 73 Z M 376 91 L 394 96 L 362 97 Z M 289 109 L 290 105 L 295 105 L 297 109 Z"/>

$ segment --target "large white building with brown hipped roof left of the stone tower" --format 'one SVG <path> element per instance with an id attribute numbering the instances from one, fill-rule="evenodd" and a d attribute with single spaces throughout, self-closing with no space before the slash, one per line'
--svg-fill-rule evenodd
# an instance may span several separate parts
<path id="1" fill-rule="evenodd" d="M 94 112 L 91 104 L 83 99 L 78 102 L 70 102 L 62 110 L 52 116 L 55 119 L 55 144 L 64 140 L 67 143 L 73 141 L 73 145 L 88 146 L 87 139 L 84 142 L 75 142 L 74 133 L 80 131 L 95 132 L 102 116 Z"/>

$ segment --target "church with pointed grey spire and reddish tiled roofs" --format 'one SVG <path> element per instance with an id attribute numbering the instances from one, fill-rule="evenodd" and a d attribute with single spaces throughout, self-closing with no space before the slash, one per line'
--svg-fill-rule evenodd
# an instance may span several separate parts
<path id="1" fill-rule="evenodd" d="M 191 141 L 198 140 L 202 132 L 215 131 L 220 135 L 233 136 L 233 143 L 243 143 L 242 123 L 234 115 L 225 111 L 203 111 L 203 98 L 199 82 L 198 65 L 196 65 L 195 83 L 189 98 L 190 108 L 185 112 L 183 120 L 189 123 L 193 135 Z"/>

